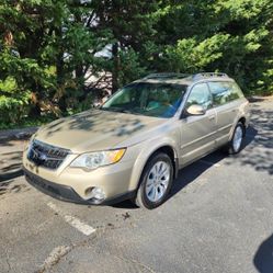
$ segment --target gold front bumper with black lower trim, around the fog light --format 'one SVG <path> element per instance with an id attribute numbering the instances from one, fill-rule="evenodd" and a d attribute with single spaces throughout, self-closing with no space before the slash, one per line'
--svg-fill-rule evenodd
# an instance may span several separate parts
<path id="1" fill-rule="evenodd" d="M 76 157 L 77 155 L 68 155 L 59 168 L 52 170 L 30 161 L 27 150 L 25 150 L 23 153 L 23 167 L 26 179 L 31 184 L 36 182 L 34 186 L 49 195 L 87 204 L 100 203 L 98 200 L 91 198 L 92 194 L 90 194 L 89 190 L 92 187 L 100 187 L 104 192 L 105 200 L 101 202 L 103 204 L 136 190 L 136 184 L 130 183 L 134 159 L 126 160 L 125 158 L 125 160 L 123 159 L 122 162 L 116 164 L 86 171 L 81 168 L 70 168 L 70 163 Z M 38 183 L 41 181 L 43 183 Z M 47 184 L 49 186 L 46 186 Z"/>

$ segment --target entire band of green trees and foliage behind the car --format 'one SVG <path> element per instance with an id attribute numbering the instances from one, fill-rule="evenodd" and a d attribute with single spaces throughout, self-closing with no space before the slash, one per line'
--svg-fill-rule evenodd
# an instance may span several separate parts
<path id="1" fill-rule="evenodd" d="M 155 71 L 224 71 L 247 94 L 272 93 L 272 11 L 270 0 L 2 0 L 0 123 L 88 109 Z"/>

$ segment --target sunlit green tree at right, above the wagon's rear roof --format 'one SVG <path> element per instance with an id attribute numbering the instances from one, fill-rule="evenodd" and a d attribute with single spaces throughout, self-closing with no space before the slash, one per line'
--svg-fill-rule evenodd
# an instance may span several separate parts
<path id="1" fill-rule="evenodd" d="M 168 1 L 156 13 L 158 43 L 164 44 L 160 69 L 220 70 L 235 77 L 247 93 L 269 92 L 272 10 L 268 0 Z"/>

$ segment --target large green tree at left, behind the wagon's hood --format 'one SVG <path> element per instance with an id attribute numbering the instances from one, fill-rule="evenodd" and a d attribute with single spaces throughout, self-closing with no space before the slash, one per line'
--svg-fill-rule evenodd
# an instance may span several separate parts
<path id="1" fill-rule="evenodd" d="M 106 60 L 94 54 L 111 41 L 106 29 L 92 32 L 92 8 L 80 1 L 1 2 L 0 101 L 8 121 L 41 110 L 60 115 L 90 96 L 87 73 L 103 71 Z M 10 81 L 14 88 L 7 92 Z M 18 105 L 24 111 L 13 116 Z"/>

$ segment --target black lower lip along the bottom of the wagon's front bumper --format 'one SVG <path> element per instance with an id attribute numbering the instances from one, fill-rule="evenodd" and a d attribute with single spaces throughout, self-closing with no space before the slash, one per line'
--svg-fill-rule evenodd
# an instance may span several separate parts
<path id="1" fill-rule="evenodd" d="M 50 181 L 47 181 L 30 171 L 27 171 L 25 168 L 23 169 L 26 181 L 39 190 L 41 192 L 50 195 L 52 197 L 55 197 L 57 200 L 66 201 L 66 202 L 72 202 L 77 204 L 92 204 L 92 205 L 111 205 L 118 202 L 122 202 L 124 200 L 128 200 L 134 197 L 135 191 L 130 191 L 124 194 L 116 195 L 114 197 L 104 200 L 104 201 L 98 201 L 95 198 L 90 200 L 83 200 L 71 186 L 57 184 Z"/>

